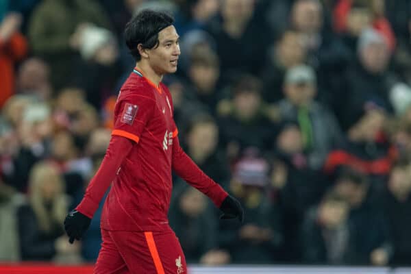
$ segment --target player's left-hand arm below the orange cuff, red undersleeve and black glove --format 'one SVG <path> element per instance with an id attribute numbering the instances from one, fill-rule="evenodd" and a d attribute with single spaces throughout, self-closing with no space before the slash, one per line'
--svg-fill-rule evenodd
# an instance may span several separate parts
<path id="1" fill-rule="evenodd" d="M 71 243 L 75 239 L 82 238 L 82 235 L 88 229 L 92 216 L 99 208 L 104 193 L 116 177 L 121 163 L 127 157 L 129 151 L 132 150 L 132 147 L 132 140 L 122 136 L 112 136 L 99 170 L 91 179 L 84 198 L 64 220 L 64 229 L 66 229 Z"/>

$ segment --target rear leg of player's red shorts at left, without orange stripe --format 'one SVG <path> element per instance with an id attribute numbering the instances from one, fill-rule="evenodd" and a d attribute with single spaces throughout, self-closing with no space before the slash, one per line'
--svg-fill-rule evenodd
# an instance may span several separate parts
<path id="1" fill-rule="evenodd" d="M 121 253 L 116 247 L 110 233 L 101 229 L 101 238 L 103 240 L 99 257 L 93 271 L 94 274 L 129 274 L 127 264 L 121 257 Z"/>

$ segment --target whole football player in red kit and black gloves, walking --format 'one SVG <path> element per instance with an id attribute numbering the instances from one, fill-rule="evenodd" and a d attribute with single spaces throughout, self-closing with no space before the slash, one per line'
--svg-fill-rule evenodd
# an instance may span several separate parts
<path id="1" fill-rule="evenodd" d="M 162 83 L 177 71 L 179 36 L 173 18 L 142 10 L 125 27 L 136 67 L 114 107 L 114 130 L 84 198 L 64 221 L 69 242 L 90 226 L 104 193 L 103 244 L 94 273 L 187 273 L 186 259 L 169 225 L 172 171 L 208 196 L 223 214 L 243 219 L 240 202 L 208 177 L 179 145 L 173 99 Z"/>

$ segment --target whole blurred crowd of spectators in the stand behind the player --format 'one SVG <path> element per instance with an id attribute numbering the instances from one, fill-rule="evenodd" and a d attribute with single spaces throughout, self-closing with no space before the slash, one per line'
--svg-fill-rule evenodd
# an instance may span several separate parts
<path id="1" fill-rule="evenodd" d="M 110 140 L 144 8 L 175 16 L 179 140 L 240 199 L 175 177 L 198 264 L 411 264 L 410 0 L 0 0 L 0 261 L 94 262 L 62 227 Z M 101 203 L 102 205 L 102 203 Z"/>

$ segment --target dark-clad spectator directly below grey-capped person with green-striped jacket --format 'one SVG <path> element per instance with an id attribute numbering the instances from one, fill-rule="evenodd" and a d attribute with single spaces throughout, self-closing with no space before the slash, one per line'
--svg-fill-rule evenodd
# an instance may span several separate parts
<path id="1" fill-rule="evenodd" d="M 308 208 L 319 203 L 326 184 L 321 173 L 308 167 L 298 124 L 284 121 L 279 127 L 272 158 L 271 192 L 282 212 L 284 262 L 301 261 L 301 224 Z"/>

